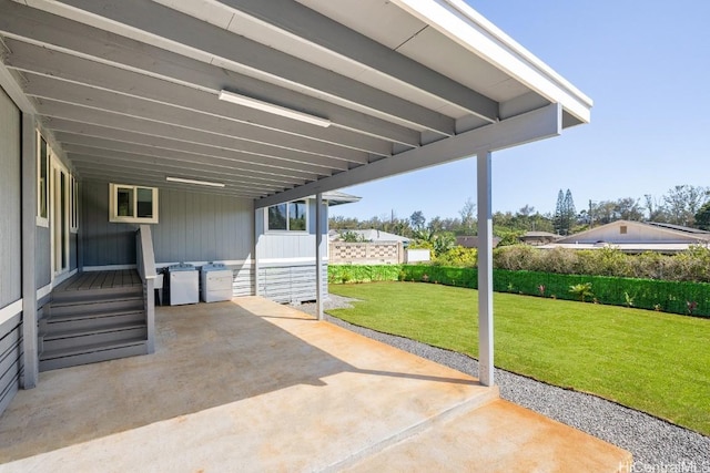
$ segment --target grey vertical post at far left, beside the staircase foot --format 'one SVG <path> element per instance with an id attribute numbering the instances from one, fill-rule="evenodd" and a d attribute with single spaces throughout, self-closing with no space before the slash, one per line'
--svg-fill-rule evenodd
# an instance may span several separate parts
<path id="1" fill-rule="evenodd" d="M 22 389 L 37 385 L 37 137 L 34 116 L 22 113 Z"/>

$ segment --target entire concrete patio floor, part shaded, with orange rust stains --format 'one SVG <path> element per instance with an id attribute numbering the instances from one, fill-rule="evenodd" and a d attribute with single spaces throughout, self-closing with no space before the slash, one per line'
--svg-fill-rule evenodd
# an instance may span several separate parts
<path id="1" fill-rule="evenodd" d="M 41 373 L 0 472 L 600 471 L 630 455 L 262 298 L 156 310 L 151 356 Z"/>

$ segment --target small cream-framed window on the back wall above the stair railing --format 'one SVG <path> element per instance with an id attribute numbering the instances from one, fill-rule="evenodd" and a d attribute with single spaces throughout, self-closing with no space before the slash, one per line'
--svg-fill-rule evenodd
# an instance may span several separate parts
<path id="1" fill-rule="evenodd" d="M 158 223 L 158 188 L 110 184 L 109 222 Z"/>

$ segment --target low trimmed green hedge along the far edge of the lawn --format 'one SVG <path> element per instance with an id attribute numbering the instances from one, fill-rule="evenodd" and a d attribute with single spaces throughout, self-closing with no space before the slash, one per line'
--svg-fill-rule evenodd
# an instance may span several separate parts
<path id="1" fill-rule="evenodd" d="M 478 288 L 476 268 L 428 265 L 351 266 L 329 265 L 328 281 L 424 281 L 446 286 Z M 539 271 L 494 269 L 494 290 L 527 296 L 575 300 L 570 286 L 591 284 L 591 300 L 612 306 L 671 313 L 710 317 L 710 284 L 618 278 L 609 276 L 560 275 Z"/>

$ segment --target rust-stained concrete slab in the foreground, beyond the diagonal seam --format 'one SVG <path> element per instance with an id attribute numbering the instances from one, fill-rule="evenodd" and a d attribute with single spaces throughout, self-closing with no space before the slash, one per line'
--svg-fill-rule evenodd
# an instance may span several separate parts
<path id="1" fill-rule="evenodd" d="M 504 400 L 371 455 L 351 472 L 617 472 L 631 454 Z"/>

